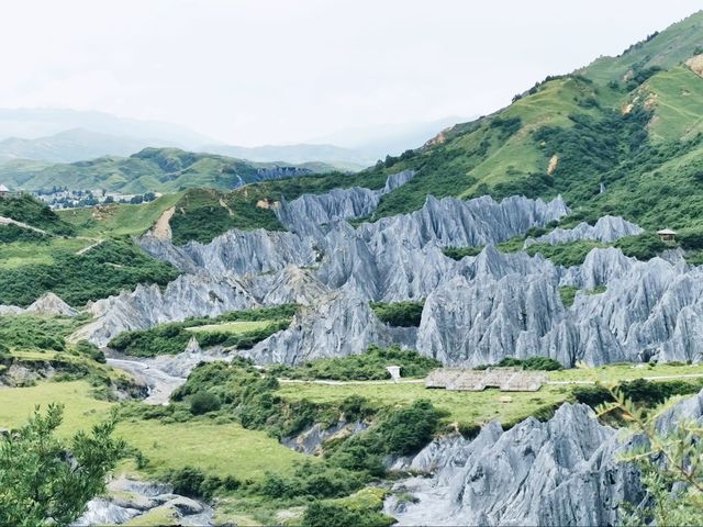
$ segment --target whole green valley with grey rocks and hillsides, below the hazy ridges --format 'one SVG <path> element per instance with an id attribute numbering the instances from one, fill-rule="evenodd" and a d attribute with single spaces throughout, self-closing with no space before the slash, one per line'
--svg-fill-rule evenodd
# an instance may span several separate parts
<path id="1" fill-rule="evenodd" d="M 0 503 L 49 445 L 96 474 L 57 525 L 694 525 L 701 35 L 356 172 L 1 165 Z M 64 186 L 163 195 L 29 193 Z"/>

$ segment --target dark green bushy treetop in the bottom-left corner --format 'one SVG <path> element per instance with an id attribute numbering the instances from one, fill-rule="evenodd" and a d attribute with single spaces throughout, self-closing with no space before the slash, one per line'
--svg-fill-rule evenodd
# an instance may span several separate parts
<path id="1" fill-rule="evenodd" d="M 0 439 L 0 525 L 69 525 L 126 457 L 126 444 L 112 437 L 114 416 L 64 441 L 55 435 L 63 415 L 63 405 L 49 405 L 45 415 L 37 407 Z"/>

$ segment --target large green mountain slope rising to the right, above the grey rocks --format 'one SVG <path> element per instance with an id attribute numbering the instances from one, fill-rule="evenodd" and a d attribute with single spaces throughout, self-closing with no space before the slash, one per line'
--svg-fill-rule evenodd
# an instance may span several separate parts
<path id="1" fill-rule="evenodd" d="M 386 173 L 417 176 L 375 217 L 417 210 L 427 194 L 561 194 L 572 222 L 617 214 L 645 228 L 703 228 L 702 35 L 698 12 L 388 159 Z M 379 184 L 376 170 L 360 177 Z"/>

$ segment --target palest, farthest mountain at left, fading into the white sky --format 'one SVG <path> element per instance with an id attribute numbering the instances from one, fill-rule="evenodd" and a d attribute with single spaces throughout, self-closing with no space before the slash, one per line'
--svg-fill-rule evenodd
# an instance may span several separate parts
<path id="1" fill-rule="evenodd" d="M 159 144 L 192 149 L 215 143 L 211 137 L 178 124 L 118 117 L 105 112 L 60 108 L 0 109 L 0 139 L 35 139 L 75 128 L 116 137 L 156 139 Z"/>

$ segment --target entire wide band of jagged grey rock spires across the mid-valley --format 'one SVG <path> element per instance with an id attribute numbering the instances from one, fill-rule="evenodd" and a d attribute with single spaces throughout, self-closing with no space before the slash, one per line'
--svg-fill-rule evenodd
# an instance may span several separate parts
<path id="1" fill-rule="evenodd" d="M 402 176 L 402 177 L 401 177 Z M 412 175 L 389 178 L 388 188 Z M 703 352 L 703 271 L 673 255 L 640 262 L 617 249 L 593 249 L 581 266 L 566 269 L 539 255 L 504 255 L 491 247 L 569 211 L 513 197 L 495 202 L 427 197 L 413 213 L 352 227 L 383 191 L 335 190 L 282 202 L 286 233 L 231 231 L 210 244 L 176 247 L 145 236 L 141 244 L 183 274 L 164 293 L 137 288 L 96 302 L 96 321 L 74 338 L 104 346 L 123 330 L 188 316 L 298 302 L 309 305 L 286 330 L 245 355 L 259 362 L 359 354 L 369 344 L 415 347 L 447 365 L 476 366 L 505 356 L 548 355 L 565 366 L 582 360 L 693 360 Z M 612 242 L 640 232 L 622 218 L 557 229 L 540 243 Z M 487 245 L 477 257 L 455 261 L 447 246 Z M 673 261 L 673 262 L 672 262 Z M 605 287 L 577 294 L 567 309 L 559 289 Z M 416 332 L 384 326 L 369 300 L 426 299 Z"/>

